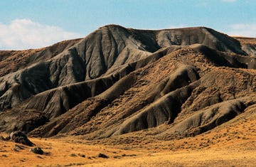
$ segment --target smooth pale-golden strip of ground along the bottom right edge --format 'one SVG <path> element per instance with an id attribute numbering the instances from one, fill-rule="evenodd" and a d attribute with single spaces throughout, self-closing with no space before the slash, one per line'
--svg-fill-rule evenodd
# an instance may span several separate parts
<path id="1" fill-rule="evenodd" d="M 255 166 L 255 151 L 205 150 L 153 153 L 85 166 Z"/>

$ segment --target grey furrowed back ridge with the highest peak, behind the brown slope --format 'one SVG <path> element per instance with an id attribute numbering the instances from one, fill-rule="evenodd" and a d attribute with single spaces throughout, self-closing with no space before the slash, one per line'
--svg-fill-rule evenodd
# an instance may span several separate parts
<path id="1" fill-rule="evenodd" d="M 115 82 L 120 77 L 127 75 L 127 72 L 135 70 L 129 68 L 129 63 L 152 57 L 150 55 L 158 50 L 164 51 L 157 52 L 158 55 L 155 55 L 157 58 L 166 54 L 166 50 L 171 52 L 185 45 L 201 43 L 213 50 L 241 55 L 247 54 L 241 50 L 240 43 L 234 38 L 204 27 L 140 31 L 110 25 L 99 28 L 78 42 L 71 41 L 70 43 L 70 45 L 65 43 L 65 45 L 61 45 L 67 47 L 57 46 L 56 48 L 61 49 L 56 52 L 43 50 L 46 52 L 45 55 L 41 56 L 39 54 L 36 58 L 32 56 L 31 59 L 27 60 L 28 63 L 25 63 L 25 65 L 30 66 L 18 71 L 16 71 L 18 65 L 13 65 L 14 70 L 11 70 L 13 68 L 10 69 L 7 65 L 3 65 L 5 66 L 4 71 L 13 71 L 13 73 L 7 74 L 3 71 L 4 76 L 0 77 L 0 109 L 14 107 L 16 104 L 23 102 L 24 99 L 40 92 L 97 79 L 102 75 L 114 75 Z M 170 48 L 166 49 L 166 47 Z M 61 50 L 63 51 L 61 52 Z M 5 60 L 5 57 L 9 56 L 3 55 L 2 57 Z M 37 58 L 41 58 L 42 61 L 35 62 L 34 60 L 37 60 Z M 142 65 L 150 63 L 147 62 L 149 60 L 153 61 L 154 59 L 148 58 L 146 62 L 141 62 Z M 248 65 L 249 68 L 252 68 L 253 63 L 252 61 Z M 247 65 L 245 66 L 247 68 Z M 21 67 L 23 67 L 23 63 L 21 63 Z M 99 88 L 97 87 L 97 89 Z M 103 90 L 96 91 L 96 93 Z M 80 101 L 84 99 L 82 98 Z"/>

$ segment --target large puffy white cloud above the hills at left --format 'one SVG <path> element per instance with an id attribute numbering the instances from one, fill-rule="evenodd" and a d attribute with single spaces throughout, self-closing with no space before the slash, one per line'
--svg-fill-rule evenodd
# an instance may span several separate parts
<path id="1" fill-rule="evenodd" d="M 1 50 L 42 48 L 59 41 L 80 37 L 79 33 L 64 31 L 56 26 L 35 23 L 30 19 L 16 19 L 10 24 L 0 23 Z"/>

